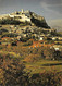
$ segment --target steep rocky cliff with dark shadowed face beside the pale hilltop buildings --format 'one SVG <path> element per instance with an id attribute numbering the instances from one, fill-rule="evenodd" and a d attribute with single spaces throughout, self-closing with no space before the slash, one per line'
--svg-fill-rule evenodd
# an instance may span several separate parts
<path id="1" fill-rule="evenodd" d="M 44 27 L 44 28 L 50 28 L 45 20 L 44 16 L 37 15 L 34 12 L 30 12 L 32 14 L 32 22 L 38 26 L 38 27 Z"/>

